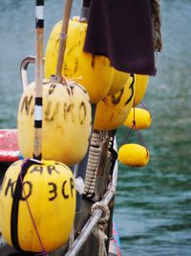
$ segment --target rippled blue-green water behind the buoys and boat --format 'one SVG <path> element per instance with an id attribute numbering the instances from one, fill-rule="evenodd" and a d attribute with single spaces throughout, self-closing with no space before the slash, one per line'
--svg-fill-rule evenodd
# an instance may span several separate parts
<path id="1" fill-rule="evenodd" d="M 34 55 L 34 2 L 0 1 L 0 128 L 16 127 L 19 65 Z M 46 1 L 45 42 L 62 2 Z M 74 1 L 73 14 L 78 7 Z M 164 47 L 144 100 L 153 114 L 152 127 L 142 132 L 150 163 L 119 165 L 116 220 L 127 256 L 191 255 L 191 1 L 162 0 L 161 11 Z M 118 130 L 119 145 L 126 133 Z"/>

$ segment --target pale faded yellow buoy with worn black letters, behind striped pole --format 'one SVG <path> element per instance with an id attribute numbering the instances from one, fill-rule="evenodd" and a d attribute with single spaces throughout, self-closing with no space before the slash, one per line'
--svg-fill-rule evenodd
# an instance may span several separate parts
<path id="1" fill-rule="evenodd" d="M 67 83 L 43 83 L 42 155 L 72 166 L 88 149 L 92 116 L 85 89 Z M 34 87 L 32 82 L 23 92 L 18 109 L 18 144 L 25 158 L 33 152 Z"/>

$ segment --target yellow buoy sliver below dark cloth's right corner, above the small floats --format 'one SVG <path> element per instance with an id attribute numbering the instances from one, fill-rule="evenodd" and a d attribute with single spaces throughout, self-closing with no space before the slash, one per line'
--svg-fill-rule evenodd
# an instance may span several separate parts
<path id="1" fill-rule="evenodd" d="M 149 76 L 146 75 L 136 75 L 136 93 L 135 93 L 135 105 L 138 105 L 147 90 L 149 82 Z"/>

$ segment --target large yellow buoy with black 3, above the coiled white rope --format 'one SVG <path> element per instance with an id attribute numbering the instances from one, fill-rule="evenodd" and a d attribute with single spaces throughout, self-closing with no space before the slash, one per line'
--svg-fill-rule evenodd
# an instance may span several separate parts
<path id="1" fill-rule="evenodd" d="M 117 94 L 107 96 L 96 106 L 95 129 L 116 129 L 124 123 L 134 102 L 134 82 L 130 77 Z"/>

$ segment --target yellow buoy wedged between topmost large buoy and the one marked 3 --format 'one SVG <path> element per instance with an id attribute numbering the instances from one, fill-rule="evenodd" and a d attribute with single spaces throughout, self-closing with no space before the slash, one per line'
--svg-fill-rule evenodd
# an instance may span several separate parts
<path id="1" fill-rule="evenodd" d="M 118 71 L 117 69 L 115 69 L 112 85 L 111 85 L 110 91 L 108 92 L 108 95 L 114 95 L 118 91 L 120 91 L 124 87 L 129 76 L 130 75 L 128 73 Z"/>

